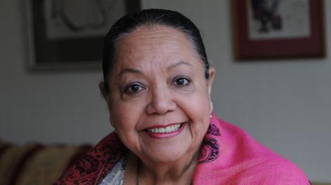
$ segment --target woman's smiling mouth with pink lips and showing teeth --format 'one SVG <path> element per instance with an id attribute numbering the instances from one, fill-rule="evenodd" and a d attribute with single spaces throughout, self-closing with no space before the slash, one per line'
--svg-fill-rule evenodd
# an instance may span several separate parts
<path id="1" fill-rule="evenodd" d="M 168 124 L 163 127 L 154 126 L 145 129 L 145 131 L 152 138 L 159 138 L 159 139 L 170 138 L 173 137 L 174 135 L 181 133 L 181 131 L 183 131 L 183 128 L 187 123 L 188 122 L 179 122 L 179 123 Z"/>

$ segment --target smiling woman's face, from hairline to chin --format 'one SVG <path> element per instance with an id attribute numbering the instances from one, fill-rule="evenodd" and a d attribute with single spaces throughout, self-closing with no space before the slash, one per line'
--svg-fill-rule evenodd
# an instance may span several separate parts
<path id="1" fill-rule="evenodd" d="M 199 149 L 208 129 L 210 80 L 190 40 L 164 25 L 137 28 L 117 43 L 106 98 L 123 144 L 144 162 L 175 162 Z"/>

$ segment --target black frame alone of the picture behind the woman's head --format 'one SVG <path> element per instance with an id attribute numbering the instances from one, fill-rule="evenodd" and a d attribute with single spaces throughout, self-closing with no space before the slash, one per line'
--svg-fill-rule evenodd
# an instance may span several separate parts
<path id="1" fill-rule="evenodd" d="M 30 68 L 72 69 L 101 67 L 103 38 L 106 32 L 99 36 L 49 39 L 46 35 L 45 1 L 27 1 Z M 124 4 L 126 14 L 141 10 L 141 2 L 139 0 L 125 0 Z M 121 17 L 122 15 L 117 16 Z"/>

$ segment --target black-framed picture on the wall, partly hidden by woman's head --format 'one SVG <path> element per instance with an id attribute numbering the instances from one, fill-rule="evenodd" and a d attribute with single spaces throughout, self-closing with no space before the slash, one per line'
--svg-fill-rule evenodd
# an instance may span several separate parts
<path id="1" fill-rule="evenodd" d="M 101 67 L 103 38 L 139 0 L 30 0 L 27 2 L 30 67 Z"/>

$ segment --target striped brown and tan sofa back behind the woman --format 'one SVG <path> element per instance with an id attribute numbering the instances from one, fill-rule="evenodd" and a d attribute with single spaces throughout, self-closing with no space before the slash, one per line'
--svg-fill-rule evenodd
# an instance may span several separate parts
<path id="1" fill-rule="evenodd" d="M 0 184 L 52 184 L 90 149 L 91 144 L 14 145 L 0 141 Z"/>

